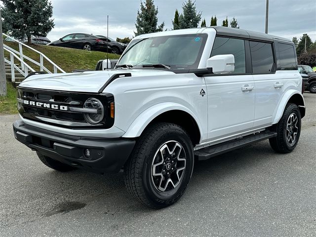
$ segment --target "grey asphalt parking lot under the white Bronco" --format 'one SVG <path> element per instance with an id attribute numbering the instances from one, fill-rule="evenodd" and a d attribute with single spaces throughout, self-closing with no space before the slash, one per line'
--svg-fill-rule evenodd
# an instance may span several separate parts
<path id="1" fill-rule="evenodd" d="M 316 95 L 304 94 L 294 152 L 268 141 L 197 162 L 184 196 L 152 210 L 122 174 L 59 173 L 14 139 L 0 116 L 0 236 L 316 236 Z"/>

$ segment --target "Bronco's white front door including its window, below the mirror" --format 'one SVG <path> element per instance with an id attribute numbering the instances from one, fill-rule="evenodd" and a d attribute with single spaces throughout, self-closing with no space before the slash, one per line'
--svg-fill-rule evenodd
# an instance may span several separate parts
<path id="1" fill-rule="evenodd" d="M 233 54 L 235 71 L 205 77 L 208 100 L 208 140 L 252 129 L 255 112 L 254 81 L 247 73 L 245 40 L 216 37 L 211 56 Z"/>

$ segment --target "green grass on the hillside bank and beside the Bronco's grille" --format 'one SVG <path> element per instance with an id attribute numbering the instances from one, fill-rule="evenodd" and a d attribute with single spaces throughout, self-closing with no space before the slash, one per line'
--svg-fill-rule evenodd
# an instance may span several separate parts
<path id="1" fill-rule="evenodd" d="M 18 44 L 15 42 L 6 42 L 6 45 L 11 48 L 14 48 L 18 51 Z M 63 48 L 55 46 L 46 46 L 46 45 L 30 45 L 36 50 L 45 54 L 50 60 L 57 64 L 65 72 L 72 72 L 75 69 L 95 69 L 97 62 L 100 59 L 106 59 L 107 54 L 104 52 L 97 51 L 85 51 L 81 49 L 72 49 L 72 48 Z M 36 60 L 40 61 L 40 57 L 37 54 L 23 47 L 23 53 Z M 4 51 L 4 56 L 8 57 L 9 54 Z M 109 53 L 109 59 L 118 59 L 119 55 Z M 53 72 L 53 68 L 47 64 L 44 60 L 44 66 Z M 17 63 L 17 62 L 16 62 Z M 35 66 L 29 61 L 26 61 L 35 71 L 40 71 L 40 67 Z M 12 86 L 11 83 L 7 82 L 7 96 L 0 96 L 0 114 L 15 114 L 17 113 L 16 109 L 16 89 Z"/>

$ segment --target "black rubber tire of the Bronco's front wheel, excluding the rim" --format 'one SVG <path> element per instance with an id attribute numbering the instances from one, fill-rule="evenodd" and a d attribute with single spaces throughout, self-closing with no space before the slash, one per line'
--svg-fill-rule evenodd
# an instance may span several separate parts
<path id="1" fill-rule="evenodd" d="M 185 169 L 178 186 L 170 192 L 159 192 L 152 178 L 152 165 L 159 149 L 168 141 L 182 146 L 186 156 Z M 191 179 L 193 166 L 193 146 L 184 129 L 173 123 L 159 122 L 150 125 L 137 141 L 131 158 L 124 166 L 124 181 L 134 198 L 151 208 L 159 209 L 175 203 L 183 195 Z"/>

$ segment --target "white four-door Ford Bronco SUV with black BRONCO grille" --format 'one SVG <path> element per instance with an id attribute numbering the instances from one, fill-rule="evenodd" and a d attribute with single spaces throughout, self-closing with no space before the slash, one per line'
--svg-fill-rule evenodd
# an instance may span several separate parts
<path id="1" fill-rule="evenodd" d="M 123 170 L 152 208 L 176 202 L 205 160 L 269 139 L 291 152 L 305 115 L 290 40 L 227 27 L 135 37 L 115 69 L 33 75 L 16 139 L 48 167 Z"/>

